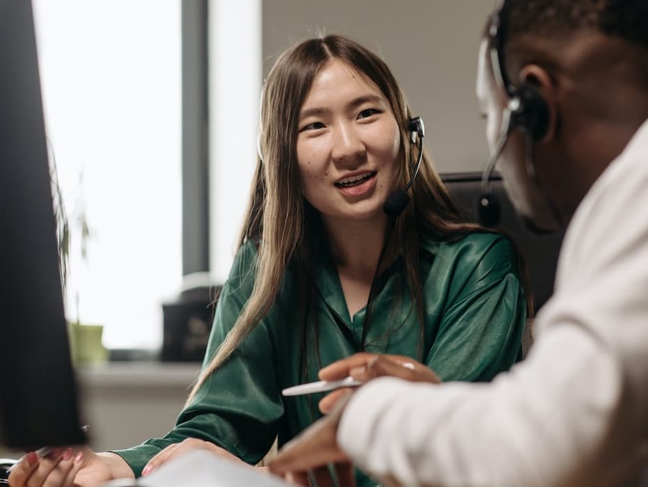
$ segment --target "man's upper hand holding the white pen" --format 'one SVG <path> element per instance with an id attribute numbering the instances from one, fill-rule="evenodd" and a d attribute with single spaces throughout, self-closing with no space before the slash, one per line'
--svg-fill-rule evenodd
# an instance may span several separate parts
<path id="1" fill-rule="evenodd" d="M 378 355 L 377 353 L 356 353 L 324 367 L 319 372 L 322 381 L 337 381 L 351 376 L 358 381 L 392 376 L 410 382 L 430 382 L 438 384 L 440 378 L 429 367 L 413 358 L 403 355 Z M 334 390 L 319 402 L 322 413 L 327 414 L 335 406 L 340 397 L 348 392 L 348 388 Z"/>

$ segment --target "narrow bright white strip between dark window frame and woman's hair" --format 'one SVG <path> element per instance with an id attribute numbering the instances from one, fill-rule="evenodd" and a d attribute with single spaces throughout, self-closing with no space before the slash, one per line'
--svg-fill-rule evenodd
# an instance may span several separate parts
<path id="1" fill-rule="evenodd" d="M 210 271 L 223 282 L 236 252 L 256 163 L 261 0 L 209 4 Z"/>

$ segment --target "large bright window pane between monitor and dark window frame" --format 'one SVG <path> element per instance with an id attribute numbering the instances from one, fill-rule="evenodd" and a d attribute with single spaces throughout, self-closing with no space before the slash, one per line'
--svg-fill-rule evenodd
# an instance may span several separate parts
<path id="1" fill-rule="evenodd" d="M 162 302 L 182 277 L 180 0 L 33 6 L 45 126 L 72 226 L 68 319 L 103 324 L 109 348 L 156 348 Z"/>

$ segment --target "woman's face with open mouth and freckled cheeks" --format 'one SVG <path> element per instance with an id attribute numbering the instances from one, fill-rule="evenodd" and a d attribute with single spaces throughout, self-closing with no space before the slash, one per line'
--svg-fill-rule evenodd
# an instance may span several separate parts
<path id="1" fill-rule="evenodd" d="M 325 221 L 384 216 L 401 136 L 389 102 L 353 67 L 327 62 L 300 111 L 297 158 L 304 197 Z"/>

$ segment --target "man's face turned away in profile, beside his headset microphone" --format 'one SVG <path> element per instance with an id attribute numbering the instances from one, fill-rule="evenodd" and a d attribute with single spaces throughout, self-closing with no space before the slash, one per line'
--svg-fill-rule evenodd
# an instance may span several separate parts
<path id="1" fill-rule="evenodd" d="M 486 139 L 491 153 L 495 149 L 497 139 L 500 138 L 502 112 L 506 109 L 509 98 L 504 89 L 497 86 L 491 70 L 490 46 L 484 39 L 479 47 L 477 63 L 477 100 L 481 113 L 486 118 Z M 530 170 L 527 170 L 525 134 L 514 131 L 509 134 L 508 141 L 498 161 L 497 168 L 502 174 L 504 188 L 509 194 L 516 211 L 531 223 L 533 227 L 541 230 L 555 230 L 555 218 L 548 207 L 548 200 L 532 179 Z M 534 161 L 537 171 L 541 161 Z"/>

